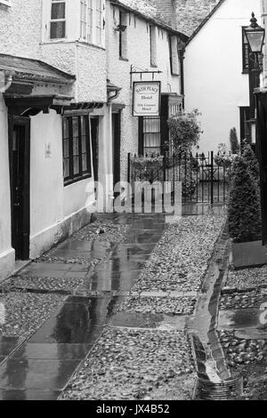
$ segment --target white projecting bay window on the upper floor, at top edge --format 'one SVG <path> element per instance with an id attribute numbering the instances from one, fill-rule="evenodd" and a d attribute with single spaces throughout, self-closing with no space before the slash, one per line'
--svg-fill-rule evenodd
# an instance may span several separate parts
<path id="1" fill-rule="evenodd" d="M 90 44 L 102 45 L 105 27 L 104 1 L 81 0 L 80 9 L 80 39 Z"/>

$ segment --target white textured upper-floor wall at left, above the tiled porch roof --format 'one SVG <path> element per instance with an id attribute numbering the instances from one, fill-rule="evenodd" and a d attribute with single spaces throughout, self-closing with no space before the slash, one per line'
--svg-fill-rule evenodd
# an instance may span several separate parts
<path id="1" fill-rule="evenodd" d="M 78 0 L 67 0 L 67 38 L 45 37 L 49 25 L 50 0 L 12 0 L 11 7 L 0 5 L 0 52 L 44 60 L 63 71 L 75 74 L 73 95 L 77 101 L 106 101 L 105 49 L 79 42 Z M 95 76 L 97 75 L 97 77 Z"/>

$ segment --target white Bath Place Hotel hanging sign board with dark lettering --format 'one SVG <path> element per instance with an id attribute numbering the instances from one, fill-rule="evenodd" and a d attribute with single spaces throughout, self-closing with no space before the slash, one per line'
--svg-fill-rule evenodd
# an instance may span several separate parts
<path id="1" fill-rule="evenodd" d="M 160 87 L 160 81 L 134 82 L 134 117 L 159 117 L 161 90 Z"/>

